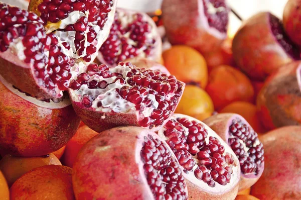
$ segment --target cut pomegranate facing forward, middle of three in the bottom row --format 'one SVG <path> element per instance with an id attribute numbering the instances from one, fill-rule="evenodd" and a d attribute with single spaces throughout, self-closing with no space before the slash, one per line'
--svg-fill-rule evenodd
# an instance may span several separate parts
<path id="1" fill-rule="evenodd" d="M 158 134 L 179 160 L 190 199 L 235 198 L 240 178 L 238 159 L 207 125 L 174 114 Z"/>

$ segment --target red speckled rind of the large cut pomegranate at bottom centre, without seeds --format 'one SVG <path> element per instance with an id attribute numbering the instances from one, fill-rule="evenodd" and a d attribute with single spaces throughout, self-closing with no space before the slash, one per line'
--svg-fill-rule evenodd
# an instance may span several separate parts
<path id="1" fill-rule="evenodd" d="M 104 131 L 86 143 L 73 165 L 76 198 L 155 199 L 140 154 L 144 137 L 149 135 L 159 138 L 139 127 L 119 127 Z M 174 154 L 173 157 L 177 160 Z"/>

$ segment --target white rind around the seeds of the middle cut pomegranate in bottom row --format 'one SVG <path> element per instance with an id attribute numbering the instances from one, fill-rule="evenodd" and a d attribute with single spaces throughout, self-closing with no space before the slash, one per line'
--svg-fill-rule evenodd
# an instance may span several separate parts
<path id="1" fill-rule="evenodd" d="M 182 114 L 174 114 L 171 119 L 177 118 L 187 118 L 189 119 L 189 121 L 196 121 L 199 124 L 201 124 L 208 131 L 208 138 L 210 136 L 216 137 L 221 142 L 221 145 L 225 147 L 225 152 L 230 153 L 238 162 L 238 158 L 236 157 L 232 149 L 226 144 L 226 142 L 223 141 L 223 139 L 218 134 L 214 132 L 214 130 L 212 130 L 205 123 L 193 117 Z M 166 136 L 164 135 L 164 129 L 159 130 L 158 135 L 166 140 Z M 235 196 L 238 193 L 239 180 L 241 176 L 239 164 L 236 167 L 233 167 L 233 173 L 231 176 L 230 183 L 227 183 L 227 185 L 225 186 L 217 183 L 215 187 L 210 187 L 207 183 L 197 179 L 194 173 L 186 173 L 187 170 L 185 170 L 182 166 L 181 169 L 186 180 L 189 199 L 235 199 Z"/>

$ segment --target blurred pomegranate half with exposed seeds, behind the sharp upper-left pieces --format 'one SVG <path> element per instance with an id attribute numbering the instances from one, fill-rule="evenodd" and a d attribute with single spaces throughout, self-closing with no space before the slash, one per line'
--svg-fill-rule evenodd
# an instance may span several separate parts
<path id="1" fill-rule="evenodd" d="M 109 67 L 128 58 L 160 61 L 162 40 L 152 18 L 145 13 L 117 9 L 108 39 L 97 58 Z"/>

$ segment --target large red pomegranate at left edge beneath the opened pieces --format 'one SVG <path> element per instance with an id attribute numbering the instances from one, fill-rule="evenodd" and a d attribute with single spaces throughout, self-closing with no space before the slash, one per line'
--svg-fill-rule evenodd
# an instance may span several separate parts
<path id="1" fill-rule="evenodd" d="M 0 76 L 0 153 L 42 156 L 62 148 L 76 133 L 80 118 L 69 99 L 42 102 Z"/>

